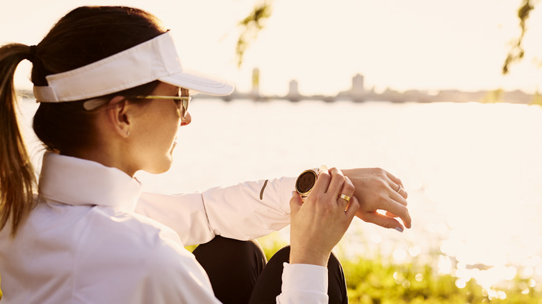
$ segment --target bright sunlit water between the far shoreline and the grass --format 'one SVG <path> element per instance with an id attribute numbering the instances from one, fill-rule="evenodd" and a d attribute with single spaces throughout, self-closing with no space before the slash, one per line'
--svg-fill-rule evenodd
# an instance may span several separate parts
<path id="1" fill-rule="evenodd" d="M 27 121 L 33 110 L 22 104 Z M 190 114 L 172 169 L 138 174 L 145 189 L 194 192 L 320 164 L 381 167 L 409 192 L 413 228 L 401 234 L 357 219 L 338 247 L 343 255 L 433 261 L 458 286 L 475 278 L 490 288 L 516 275 L 542 283 L 538 106 L 195 99 Z M 287 242 L 288 233 L 279 237 Z"/>

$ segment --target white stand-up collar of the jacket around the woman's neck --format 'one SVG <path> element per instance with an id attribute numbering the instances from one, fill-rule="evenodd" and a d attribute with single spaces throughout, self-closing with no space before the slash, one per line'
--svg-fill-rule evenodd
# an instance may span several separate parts
<path id="1" fill-rule="evenodd" d="M 40 197 L 68 205 L 102 205 L 133 212 L 141 183 L 117 168 L 55 153 L 43 157 Z"/>

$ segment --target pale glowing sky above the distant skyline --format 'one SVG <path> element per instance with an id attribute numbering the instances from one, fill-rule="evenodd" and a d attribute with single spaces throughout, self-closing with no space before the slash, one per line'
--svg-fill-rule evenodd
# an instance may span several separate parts
<path id="1" fill-rule="evenodd" d="M 183 65 L 218 74 L 250 90 L 260 69 L 263 94 L 286 94 L 292 79 L 302 94 L 334 95 L 363 74 L 366 89 L 523 90 L 542 85 L 542 4 L 531 13 L 525 58 L 501 74 L 518 37 L 521 0 L 274 0 L 273 14 L 236 64 L 238 22 L 256 0 L 7 1 L 0 44 L 38 44 L 76 6 L 126 5 L 148 10 L 172 29 Z M 31 65 L 16 74 L 31 88 Z M 542 87 L 540 88 L 542 89 Z"/>

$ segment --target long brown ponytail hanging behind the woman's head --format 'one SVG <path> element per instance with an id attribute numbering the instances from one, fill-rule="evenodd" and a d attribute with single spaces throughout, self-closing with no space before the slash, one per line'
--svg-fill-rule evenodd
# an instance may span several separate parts
<path id="1" fill-rule="evenodd" d="M 35 174 L 17 121 L 13 78 L 19 62 L 33 59 L 35 47 L 0 47 L 0 230 L 10 222 L 10 236 L 33 208 Z"/>

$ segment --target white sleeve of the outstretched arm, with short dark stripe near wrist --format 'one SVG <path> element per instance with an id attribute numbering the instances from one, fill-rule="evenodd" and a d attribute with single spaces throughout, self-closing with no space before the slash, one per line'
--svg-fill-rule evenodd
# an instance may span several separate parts
<path id="1" fill-rule="evenodd" d="M 277 178 L 192 194 L 144 192 L 136 212 L 175 230 L 186 246 L 215 235 L 256 239 L 288 226 L 294 183 L 295 178 Z"/>

